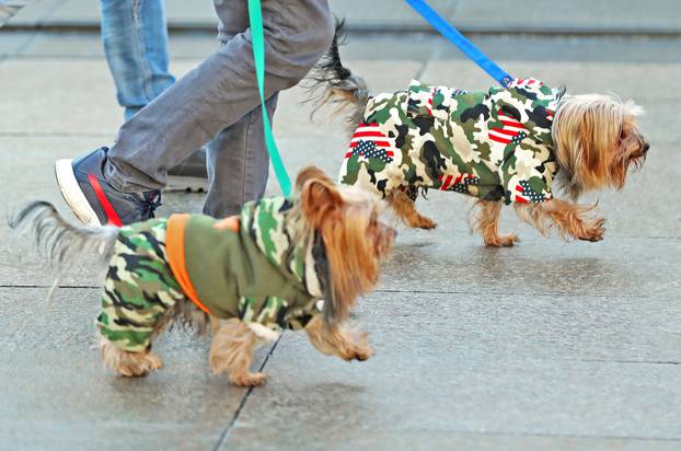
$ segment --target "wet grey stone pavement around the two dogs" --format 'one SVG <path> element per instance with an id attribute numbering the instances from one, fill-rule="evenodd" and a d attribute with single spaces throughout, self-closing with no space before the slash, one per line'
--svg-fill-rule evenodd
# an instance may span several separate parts
<path id="1" fill-rule="evenodd" d="M 0 31 L 0 217 L 36 198 L 67 213 L 54 160 L 113 141 L 120 125 L 93 3 L 38 2 Z M 216 48 L 204 32 L 210 4 L 188 3 L 168 2 L 178 76 Z M 680 449 L 681 9 L 671 0 L 435 3 L 477 24 L 474 42 L 513 74 L 612 91 L 646 108 L 645 167 L 621 192 L 586 198 L 608 218 L 605 240 L 542 238 L 506 211 L 503 229 L 522 242 L 485 248 L 468 231 L 471 201 L 431 193 L 419 208 L 439 228 L 402 228 L 378 289 L 360 300 L 376 357 L 346 363 L 287 332 L 257 354 L 269 382 L 245 390 L 212 377 L 208 342 L 184 332 L 160 342 L 162 371 L 139 380 L 105 371 L 93 327 L 101 270 L 83 262 L 46 303 L 50 271 L 27 238 L 1 226 L 0 449 Z M 401 3 L 333 4 L 355 18 L 343 55 L 373 92 L 414 77 L 492 84 L 442 39 L 417 33 Z M 183 23 L 194 28 L 180 33 Z M 414 33 L 393 33 L 401 26 Z M 347 137 L 339 124 L 312 125 L 301 96 L 282 93 L 275 118 L 286 163 L 334 174 Z M 201 195 L 169 194 L 161 213 L 200 206 Z"/>

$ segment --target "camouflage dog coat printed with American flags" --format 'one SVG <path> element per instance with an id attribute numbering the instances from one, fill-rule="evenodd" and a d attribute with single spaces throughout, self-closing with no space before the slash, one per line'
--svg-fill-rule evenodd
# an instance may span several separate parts
<path id="1" fill-rule="evenodd" d="M 383 197 L 435 188 L 506 204 L 551 199 L 559 96 L 534 79 L 487 92 L 414 80 L 406 91 L 369 100 L 339 181 Z"/>

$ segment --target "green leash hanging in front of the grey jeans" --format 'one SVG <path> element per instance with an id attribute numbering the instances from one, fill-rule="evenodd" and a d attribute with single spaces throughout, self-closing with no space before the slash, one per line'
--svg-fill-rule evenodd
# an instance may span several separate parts
<path id="1" fill-rule="evenodd" d="M 286 172 L 281 154 L 272 134 L 269 116 L 265 107 L 265 34 L 263 33 L 263 9 L 261 0 L 249 0 L 249 19 L 251 20 L 251 37 L 253 39 L 253 60 L 255 62 L 255 78 L 261 92 L 261 107 L 263 108 L 263 129 L 265 131 L 265 144 L 269 152 L 269 160 L 275 170 L 277 182 L 285 196 L 291 194 L 291 180 Z"/>

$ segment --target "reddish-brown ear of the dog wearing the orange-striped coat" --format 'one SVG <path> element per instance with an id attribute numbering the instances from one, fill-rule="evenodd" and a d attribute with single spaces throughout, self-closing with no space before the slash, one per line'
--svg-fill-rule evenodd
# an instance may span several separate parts
<path id="1" fill-rule="evenodd" d="M 322 176 L 308 180 L 300 193 L 303 216 L 313 228 L 320 227 L 325 220 L 335 219 L 343 206 L 343 197 L 333 182 L 323 173 Z"/>

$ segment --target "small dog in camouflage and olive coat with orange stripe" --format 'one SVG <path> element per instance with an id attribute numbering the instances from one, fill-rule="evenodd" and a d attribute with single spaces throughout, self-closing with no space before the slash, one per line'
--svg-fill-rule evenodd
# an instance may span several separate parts
<path id="1" fill-rule="evenodd" d="M 217 323 L 210 368 L 227 371 L 235 385 L 258 385 L 266 375 L 250 372 L 253 352 L 284 328 L 304 328 L 326 355 L 372 355 L 367 334 L 347 319 L 357 297 L 377 284 L 395 235 L 379 221 L 380 203 L 336 188 L 316 167 L 301 171 L 296 186 L 298 197 L 250 203 L 223 220 L 173 215 L 120 229 L 83 228 L 36 201 L 10 226 L 32 224 L 57 265 L 84 252 L 108 262 L 97 317 L 108 368 L 146 375 L 162 367 L 151 343 L 166 326 L 201 333 L 218 317 L 224 321 Z"/>

